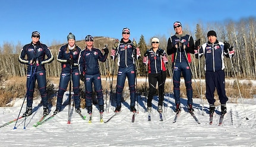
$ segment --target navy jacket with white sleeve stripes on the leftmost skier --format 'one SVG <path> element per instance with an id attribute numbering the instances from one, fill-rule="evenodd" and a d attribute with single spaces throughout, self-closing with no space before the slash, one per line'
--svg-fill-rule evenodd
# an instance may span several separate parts
<path id="1" fill-rule="evenodd" d="M 47 58 L 45 58 L 45 55 Z M 25 58 L 26 56 L 27 58 Z M 38 61 L 39 66 L 37 67 L 37 71 L 40 71 L 45 70 L 44 64 L 52 62 L 54 57 L 50 49 L 45 44 L 41 44 L 38 41 L 36 44 L 31 42 L 30 44 L 24 45 L 18 60 L 20 63 L 28 65 L 28 71 L 30 71 L 31 67 L 36 67 L 36 62 Z M 30 64 L 31 60 L 33 64 Z"/>

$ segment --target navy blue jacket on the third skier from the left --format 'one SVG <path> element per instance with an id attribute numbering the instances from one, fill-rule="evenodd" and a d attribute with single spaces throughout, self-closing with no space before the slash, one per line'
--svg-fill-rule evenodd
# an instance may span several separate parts
<path id="1" fill-rule="evenodd" d="M 78 64 L 80 74 L 98 74 L 100 73 L 99 61 L 105 62 L 108 54 L 102 54 L 97 48 L 91 48 L 91 51 L 86 47 L 80 52 Z"/>

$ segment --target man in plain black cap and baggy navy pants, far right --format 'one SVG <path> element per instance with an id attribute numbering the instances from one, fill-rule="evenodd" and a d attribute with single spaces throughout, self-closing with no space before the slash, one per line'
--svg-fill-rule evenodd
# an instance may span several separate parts
<path id="1" fill-rule="evenodd" d="M 203 44 L 197 53 L 195 50 L 195 57 L 201 57 L 204 54 L 206 63 L 204 70 L 206 70 L 206 99 L 210 104 L 210 116 L 213 116 L 215 106 L 214 91 L 217 89 L 219 100 L 221 103 L 222 114 L 226 111 L 226 102 L 228 100 L 225 91 L 225 72 L 224 72 L 224 55 L 232 57 L 235 53 L 233 47 L 229 43 L 222 43 L 217 40 L 216 32 L 211 30 L 207 33 L 208 42 Z"/>

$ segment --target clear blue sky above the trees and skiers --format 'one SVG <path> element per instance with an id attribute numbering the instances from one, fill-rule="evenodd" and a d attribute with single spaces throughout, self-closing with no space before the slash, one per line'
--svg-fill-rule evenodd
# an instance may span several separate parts
<path id="1" fill-rule="evenodd" d="M 84 40 L 88 34 L 120 39 L 125 27 L 131 30 L 131 38 L 138 41 L 144 35 L 148 41 L 154 35 L 173 35 L 175 21 L 193 28 L 198 22 L 256 17 L 253 0 L 0 1 L 0 46 L 18 41 L 28 44 L 32 31 L 39 31 L 40 41 L 46 45 L 67 43 L 69 32 L 76 40 Z"/>

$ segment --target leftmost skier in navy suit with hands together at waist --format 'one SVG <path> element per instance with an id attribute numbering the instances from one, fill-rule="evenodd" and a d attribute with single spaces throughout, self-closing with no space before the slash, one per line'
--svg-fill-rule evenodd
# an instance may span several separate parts
<path id="1" fill-rule="evenodd" d="M 53 61 L 53 55 L 50 49 L 45 45 L 40 43 L 40 33 L 37 31 L 32 32 L 32 41 L 30 44 L 24 45 L 21 50 L 20 57 L 18 60 L 22 64 L 27 64 L 27 109 L 23 114 L 23 117 L 30 116 L 32 114 L 32 104 L 33 104 L 33 93 L 34 87 L 38 84 L 39 92 L 42 97 L 43 103 L 43 115 L 49 114 L 48 109 L 48 96 L 46 93 L 46 73 L 45 64 Z M 47 58 L 45 58 L 45 55 Z M 25 58 L 27 56 L 27 58 Z M 35 71 L 36 69 L 36 71 Z"/>

